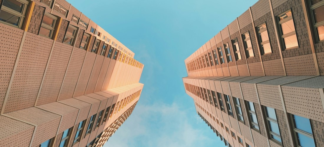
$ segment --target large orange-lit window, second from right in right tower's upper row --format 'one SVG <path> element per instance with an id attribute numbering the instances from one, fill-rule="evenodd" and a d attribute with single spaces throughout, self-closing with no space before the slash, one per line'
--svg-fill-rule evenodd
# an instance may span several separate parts
<path id="1" fill-rule="evenodd" d="M 279 15 L 278 20 L 284 49 L 298 47 L 295 24 L 291 10 Z"/>

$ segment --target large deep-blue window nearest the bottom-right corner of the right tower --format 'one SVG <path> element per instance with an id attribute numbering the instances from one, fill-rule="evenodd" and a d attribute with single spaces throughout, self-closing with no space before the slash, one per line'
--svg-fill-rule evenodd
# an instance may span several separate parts
<path id="1" fill-rule="evenodd" d="M 291 115 L 295 139 L 298 146 L 315 147 L 312 127 L 310 120 L 298 115 Z"/>

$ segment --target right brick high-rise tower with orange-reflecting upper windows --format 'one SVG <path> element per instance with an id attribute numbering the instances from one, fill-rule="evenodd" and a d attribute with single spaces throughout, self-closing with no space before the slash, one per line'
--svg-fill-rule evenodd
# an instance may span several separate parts
<path id="1" fill-rule="evenodd" d="M 185 65 L 186 93 L 226 145 L 324 146 L 323 0 L 259 0 Z"/>

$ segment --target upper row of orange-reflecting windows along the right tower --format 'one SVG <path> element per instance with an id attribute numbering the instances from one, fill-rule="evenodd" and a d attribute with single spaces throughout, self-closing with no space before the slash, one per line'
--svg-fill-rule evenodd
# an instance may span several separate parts
<path id="1" fill-rule="evenodd" d="M 314 36 L 315 43 L 324 42 L 324 0 L 310 0 L 307 1 L 309 8 L 309 14 L 311 18 L 311 29 Z M 278 28 L 278 37 L 281 43 L 282 50 L 294 49 L 299 47 L 299 40 L 295 30 L 295 21 L 292 10 L 287 10 L 282 14 L 275 16 L 276 25 Z M 264 22 L 263 24 L 256 26 L 255 32 L 257 33 L 257 41 L 260 47 L 261 55 L 271 54 L 273 52 L 272 45 L 269 39 L 267 24 L 272 22 Z M 254 57 L 253 47 L 250 39 L 250 32 L 244 32 L 241 34 L 241 41 L 243 42 L 244 50 L 247 58 Z M 233 53 L 236 61 L 242 59 L 240 48 L 238 45 L 238 40 L 240 38 L 234 38 L 231 40 L 233 47 Z M 219 64 L 227 62 L 232 62 L 232 57 L 229 43 L 225 43 L 223 47 L 225 48 L 223 53 L 222 47 L 217 47 L 215 50 L 211 50 L 208 53 L 197 57 L 191 62 L 187 63 L 187 68 L 189 71 L 194 71 L 206 67 L 216 66 Z M 216 54 L 218 52 L 218 55 Z M 218 62 L 219 60 L 219 62 Z"/>

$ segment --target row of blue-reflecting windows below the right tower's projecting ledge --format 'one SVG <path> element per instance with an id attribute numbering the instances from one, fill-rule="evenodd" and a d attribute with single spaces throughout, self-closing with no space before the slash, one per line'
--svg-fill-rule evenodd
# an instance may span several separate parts
<path id="1" fill-rule="evenodd" d="M 187 91 L 191 92 L 192 94 L 197 94 L 198 97 L 200 97 L 201 99 L 203 98 L 203 96 L 199 94 L 201 92 L 199 91 L 199 89 L 203 89 L 203 88 L 188 83 L 185 83 L 185 88 Z M 209 91 L 209 89 L 206 90 Z M 213 101 L 210 102 L 211 105 L 214 104 L 213 106 L 215 106 L 219 110 L 227 112 L 228 115 L 234 117 L 233 109 L 230 103 L 230 101 L 233 100 L 234 102 L 233 105 L 235 107 L 237 120 L 241 121 L 243 124 L 245 124 L 245 122 L 247 121 L 244 120 L 243 113 L 242 113 L 242 107 L 245 107 L 249 119 L 248 123 L 250 125 L 250 128 L 260 132 L 260 124 L 258 118 L 261 118 L 261 116 L 258 116 L 258 113 L 256 112 L 255 109 L 255 104 L 253 102 L 245 100 L 244 101 L 245 103 L 242 104 L 239 98 L 232 97 L 231 99 L 231 97 L 226 94 L 221 94 L 219 92 L 214 92 L 212 90 L 210 91 L 212 93 L 216 93 L 215 96 L 217 96 L 214 97 L 213 94 Z M 226 111 L 223 104 L 222 95 L 224 96 L 225 99 Z M 220 107 L 217 107 L 217 101 L 219 102 Z M 197 106 L 200 105 L 197 104 Z M 201 106 L 199 108 L 201 108 L 204 111 L 204 109 Z M 281 137 L 280 127 L 278 125 L 278 119 L 277 119 L 277 114 L 275 109 L 266 106 L 261 106 L 261 108 L 262 108 L 261 111 L 264 118 L 264 122 L 266 122 L 265 124 L 267 127 L 267 133 L 269 139 L 273 140 L 279 145 L 282 145 L 282 137 Z M 208 114 L 208 116 L 210 115 Z M 291 128 L 293 128 L 292 134 L 294 135 L 295 143 L 301 147 L 303 146 L 315 147 L 315 140 L 313 137 L 313 131 L 312 131 L 310 119 L 298 115 L 294 115 L 294 114 L 287 114 L 287 117 L 290 120 L 289 125 L 291 126 Z"/>

